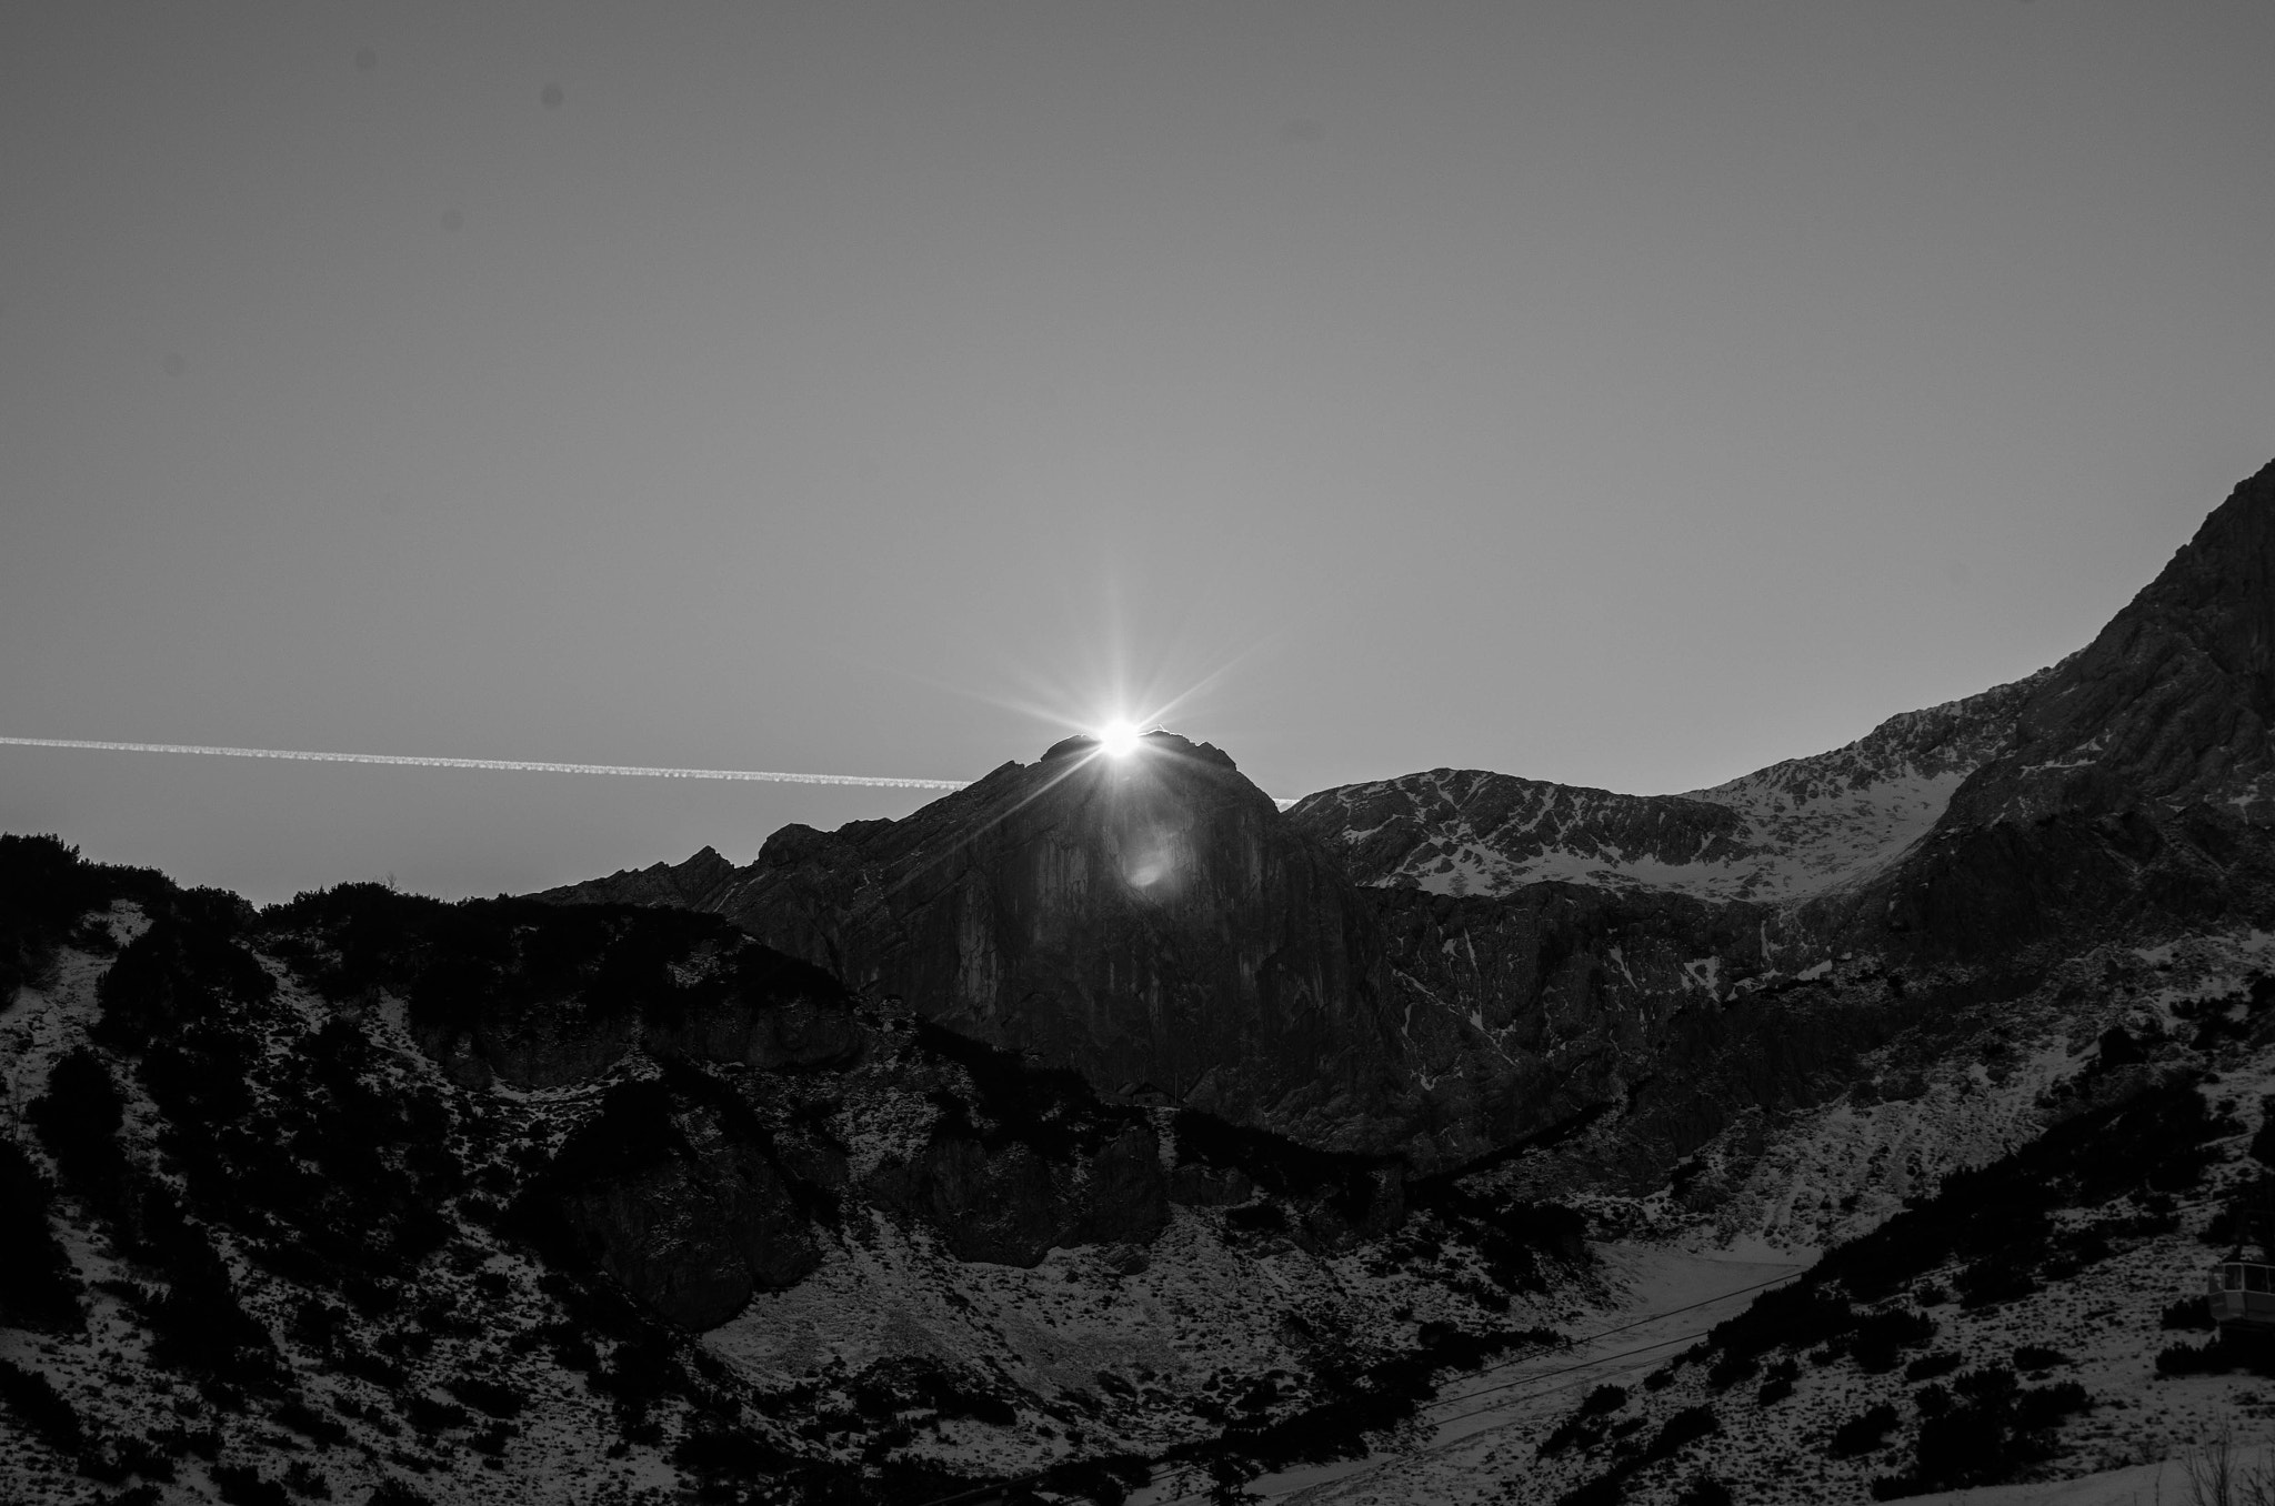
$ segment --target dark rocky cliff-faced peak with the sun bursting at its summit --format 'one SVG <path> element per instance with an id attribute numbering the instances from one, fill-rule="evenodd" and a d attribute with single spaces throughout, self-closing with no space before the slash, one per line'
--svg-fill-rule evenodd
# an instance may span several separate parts
<path id="1" fill-rule="evenodd" d="M 1420 1126 L 1365 896 L 1213 746 L 1067 739 L 905 821 L 792 826 L 689 880 L 769 946 L 1101 1092 L 1338 1149 Z"/>

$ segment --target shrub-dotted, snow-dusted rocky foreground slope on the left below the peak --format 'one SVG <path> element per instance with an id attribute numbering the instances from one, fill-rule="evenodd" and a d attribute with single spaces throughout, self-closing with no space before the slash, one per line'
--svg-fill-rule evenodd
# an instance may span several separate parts
<path id="1" fill-rule="evenodd" d="M 1395 1431 L 1592 1285 L 1570 1213 L 1103 1101 L 714 917 L 253 912 L 25 837 L 0 899 L 0 1499 L 930 1501 L 1065 1463 L 1117 1501 L 1226 1431 Z"/>

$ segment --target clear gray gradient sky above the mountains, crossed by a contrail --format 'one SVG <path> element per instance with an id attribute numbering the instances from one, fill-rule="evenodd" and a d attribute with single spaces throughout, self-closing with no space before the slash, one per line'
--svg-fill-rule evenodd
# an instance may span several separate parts
<path id="1" fill-rule="evenodd" d="M 0 735 L 1715 783 L 2275 455 L 2275 7 L 14 7 Z M 259 899 L 924 798 L 0 748 Z"/>

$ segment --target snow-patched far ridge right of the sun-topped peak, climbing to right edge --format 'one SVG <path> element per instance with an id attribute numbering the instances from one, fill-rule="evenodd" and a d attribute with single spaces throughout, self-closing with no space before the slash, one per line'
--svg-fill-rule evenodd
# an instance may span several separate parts
<path id="1" fill-rule="evenodd" d="M 2079 653 L 1713 789 L 1622 796 L 1433 769 L 1306 796 L 1290 824 L 1363 885 L 1508 894 L 1563 880 L 1774 905 L 1854 889 L 1931 837 L 2027 817 L 2275 814 L 2275 466 L 2223 503 Z"/>

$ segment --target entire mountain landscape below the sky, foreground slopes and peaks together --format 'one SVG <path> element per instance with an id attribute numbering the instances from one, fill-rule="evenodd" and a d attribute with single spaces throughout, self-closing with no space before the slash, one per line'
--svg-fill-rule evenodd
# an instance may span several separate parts
<path id="1" fill-rule="evenodd" d="M 2202 1283 L 2275 1185 L 2270 569 L 2275 466 L 2063 662 L 1686 796 L 1067 739 L 748 864 L 259 912 L 0 837 L 0 1497 L 2179 1458 L 2266 1370 Z"/>

